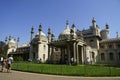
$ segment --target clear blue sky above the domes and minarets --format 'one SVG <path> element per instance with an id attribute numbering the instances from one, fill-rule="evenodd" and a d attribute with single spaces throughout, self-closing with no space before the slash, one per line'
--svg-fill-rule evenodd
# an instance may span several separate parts
<path id="1" fill-rule="evenodd" d="M 39 24 L 47 35 L 48 27 L 56 38 L 65 29 L 66 20 L 77 29 L 88 29 L 94 17 L 101 29 L 110 26 L 110 36 L 120 33 L 120 0 L 0 0 L 0 41 L 6 36 L 30 41 L 31 27 L 35 34 Z"/>

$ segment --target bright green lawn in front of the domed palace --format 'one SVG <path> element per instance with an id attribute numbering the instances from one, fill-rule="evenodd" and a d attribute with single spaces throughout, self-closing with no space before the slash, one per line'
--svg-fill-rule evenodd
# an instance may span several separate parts
<path id="1" fill-rule="evenodd" d="M 68 75 L 68 76 L 120 76 L 120 69 L 104 65 L 56 65 L 20 62 L 13 63 L 12 69 L 26 72 Z"/>

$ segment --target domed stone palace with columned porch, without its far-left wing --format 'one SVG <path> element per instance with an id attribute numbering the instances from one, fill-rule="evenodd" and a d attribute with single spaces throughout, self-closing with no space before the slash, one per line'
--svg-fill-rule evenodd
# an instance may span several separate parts
<path id="1" fill-rule="evenodd" d="M 120 39 L 110 38 L 109 25 L 100 29 L 96 20 L 92 19 L 89 29 L 76 29 L 75 24 L 71 27 L 66 21 L 66 28 L 55 39 L 54 33 L 48 29 L 48 36 L 39 26 L 38 34 L 33 36 L 34 28 L 31 29 L 29 59 L 41 60 L 48 63 L 62 64 L 119 64 Z"/>

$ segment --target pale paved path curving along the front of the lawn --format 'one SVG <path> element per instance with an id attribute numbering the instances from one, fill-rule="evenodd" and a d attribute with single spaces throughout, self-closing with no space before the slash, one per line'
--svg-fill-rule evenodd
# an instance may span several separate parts
<path id="1" fill-rule="evenodd" d="M 72 77 L 12 71 L 0 72 L 0 80 L 120 80 L 120 77 Z"/>

